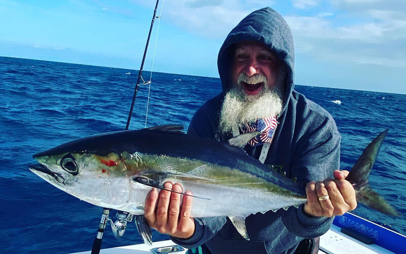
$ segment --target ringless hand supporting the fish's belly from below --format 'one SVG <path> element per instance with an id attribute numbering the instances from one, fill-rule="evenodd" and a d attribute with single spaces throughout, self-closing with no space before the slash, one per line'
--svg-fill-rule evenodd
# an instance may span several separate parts
<path id="1" fill-rule="evenodd" d="M 194 233 L 194 220 L 190 217 L 192 197 L 183 195 L 181 206 L 182 187 L 179 184 L 165 182 L 165 189 L 158 194 L 154 188 L 145 200 L 144 216 L 151 228 L 160 233 L 178 238 L 188 238 Z M 186 194 L 191 194 L 186 192 Z"/>

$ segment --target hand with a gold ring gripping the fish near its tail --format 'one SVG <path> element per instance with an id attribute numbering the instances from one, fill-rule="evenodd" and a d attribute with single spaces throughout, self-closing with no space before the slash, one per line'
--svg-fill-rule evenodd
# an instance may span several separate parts
<path id="1" fill-rule="evenodd" d="M 304 212 L 313 216 L 331 217 L 354 210 L 357 200 L 354 187 L 345 180 L 348 173 L 347 170 L 335 170 L 335 179 L 309 182 L 306 185 L 308 203 L 304 204 Z"/>

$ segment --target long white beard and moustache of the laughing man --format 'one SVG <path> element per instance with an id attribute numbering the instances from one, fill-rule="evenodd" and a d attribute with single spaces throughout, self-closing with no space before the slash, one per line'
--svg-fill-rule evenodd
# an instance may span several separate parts
<path id="1" fill-rule="evenodd" d="M 284 69 L 284 68 L 281 68 Z M 265 118 L 268 116 L 279 116 L 282 112 L 282 89 L 285 81 L 285 73 L 280 72 L 278 82 L 274 89 L 270 90 L 267 83 L 262 90 L 255 95 L 245 93 L 242 84 L 236 85 L 236 88 L 230 89 L 224 97 L 223 106 L 220 112 L 219 133 L 229 133 L 232 126 L 241 126 L 245 122 Z M 258 74 L 261 75 L 261 74 Z M 263 79 L 265 77 L 256 77 Z M 240 80 L 246 80 L 246 77 L 239 77 Z M 266 78 L 265 78 L 266 81 Z"/>

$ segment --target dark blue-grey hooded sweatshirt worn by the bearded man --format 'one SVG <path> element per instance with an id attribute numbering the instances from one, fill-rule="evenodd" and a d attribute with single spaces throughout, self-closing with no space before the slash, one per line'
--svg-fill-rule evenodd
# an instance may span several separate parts
<path id="1" fill-rule="evenodd" d="M 283 111 L 265 164 L 282 166 L 287 177 L 302 182 L 333 177 L 332 172 L 340 168 L 341 137 L 331 115 L 294 90 L 292 34 L 282 16 L 271 8 L 249 14 L 225 39 L 217 61 L 223 92 L 194 114 L 188 133 L 210 139 L 229 138 L 216 135 L 219 112 L 224 94 L 231 87 L 233 45 L 244 41 L 266 45 L 286 67 Z M 260 149 L 256 146 L 247 153 L 258 158 Z M 193 236 L 172 239 L 188 248 L 206 244 L 212 253 L 293 253 L 303 238 L 324 234 L 332 219 L 307 215 L 303 205 L 251 214 L 246 218 L 247 241 L 226 217 L 195 218 Z"/>

